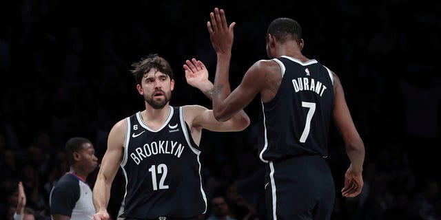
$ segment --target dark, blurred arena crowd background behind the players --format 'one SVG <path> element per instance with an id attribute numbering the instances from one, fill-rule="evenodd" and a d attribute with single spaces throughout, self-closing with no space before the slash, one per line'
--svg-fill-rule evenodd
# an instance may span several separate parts
<path id="1" fill-rule="evenodd" d="M 151 52 L 174 69 L 170 104 L 211 108 L 201 91 L 185 83 L 182 65 L 197 58 L 214 78 L 216 54 L 206 27 L 214 7 L 236 22 L 232 88 L 249 66 L 267 58 L 265 33 L 277 17 L 298 21 L 302 52 L 340 77 L 365 142 L 366 185 L 355 199 L 337 195 L 334 219 L 441 219 L 441 5 L 426 0 L 1 1 L 2 207 L 8 207 L 14 181 L 28 179 L 27 195 L 37 191 L 28 203 L 48 216 L 48 192 L 66 168 L 56 155 L 69 137 L 81 135 L 102 158 L 112 125 L 144 108 L 130 69 Z M 265 219 L 255 143 L 259 97 L 245 111 L 252 118 L 245 131 L 203 131 L 203 172 L 209 197 L 233 184 Z M 334 127 L 328 161 L 339 192 L 349 160 Z M 118 175 L 112 214 L 123 184 Z"/>

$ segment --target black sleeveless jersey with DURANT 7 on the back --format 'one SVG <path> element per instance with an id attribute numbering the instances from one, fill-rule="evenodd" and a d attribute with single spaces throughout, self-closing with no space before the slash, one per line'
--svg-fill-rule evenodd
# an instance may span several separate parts
<path id="1" fill-rule="evenodd" d="M 282 69 L 276 96 L 262 102 L 258 149 L 263 162 L 303 154 L 327 157 L 334 77 L 316 60 L 274 58 Z"/>

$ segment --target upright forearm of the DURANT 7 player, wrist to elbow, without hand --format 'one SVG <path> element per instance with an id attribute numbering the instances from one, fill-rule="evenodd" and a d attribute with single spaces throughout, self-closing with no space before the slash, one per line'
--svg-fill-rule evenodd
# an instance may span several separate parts
<path id="1" fill-rule="evenodd" d="M 213 113 L 216 120 L 225 121 L 233 115 L 225 114 L 225 98 L 231 93 L 229 86 L 229 60 L 231 54 L 218 54 L 214 76 Z"/>

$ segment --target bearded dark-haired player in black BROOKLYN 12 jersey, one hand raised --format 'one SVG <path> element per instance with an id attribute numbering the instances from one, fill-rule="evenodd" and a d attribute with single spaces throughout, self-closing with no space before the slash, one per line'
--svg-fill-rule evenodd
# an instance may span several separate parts
<path id="1" fill-rule="evenodd" d="M 158 54 L 132 67 L 145 109 L 117 122 L 110 131 L 93 189 L 93 219 L 110 219 L 107 205 L 119 166 L 126 180 L 119 218 L 198 219 L 207 211 L 198 146 L 201 131 L 243 131 L 249 117 L 239 111 L 230 120 L 218 122 L 213 111 L 203 106 L 170 106 L 173 72 Z M 183 67 L 187 83 L 212 99 L 213 84 L 205 65 L 192 59 Z"/>

